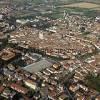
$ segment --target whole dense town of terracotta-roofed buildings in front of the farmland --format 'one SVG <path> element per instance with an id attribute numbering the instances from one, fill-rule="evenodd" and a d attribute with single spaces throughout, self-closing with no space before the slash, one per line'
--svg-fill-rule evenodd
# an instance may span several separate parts
<path id="1" fill-rule="evenodd" d="M 99 16 L 0 14 L 0 100 L 100 100 L 99 33 Z"/>

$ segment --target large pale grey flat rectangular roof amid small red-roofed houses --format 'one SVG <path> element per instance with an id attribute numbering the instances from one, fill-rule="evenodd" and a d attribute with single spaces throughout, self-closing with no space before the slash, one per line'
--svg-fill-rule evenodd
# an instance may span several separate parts
<path id="1" fill-rule="evenodd" d="M 23 69 L 30 73 L 36 73 L 52 65 L 53 64 L 51 62 L 47 61 L 46 59 L 43 59 L 43 60 L 40 60 L 39 62 L 28 65 L 24 67 Z"/>

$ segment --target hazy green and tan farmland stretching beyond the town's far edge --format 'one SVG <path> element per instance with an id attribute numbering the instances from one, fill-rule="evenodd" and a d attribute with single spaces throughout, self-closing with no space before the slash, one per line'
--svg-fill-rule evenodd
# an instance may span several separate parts
<path id="1" fill-rule="evenodd" d="M 63 18 L 64 11 L 89 17 L 100 14 L 100 0 L 0 0 L 0 2 L 4 2 L 0 4 L 0 8 L 10 6 L 12 15 L 16 18 L 43 15 L 57 19 Z"/>

